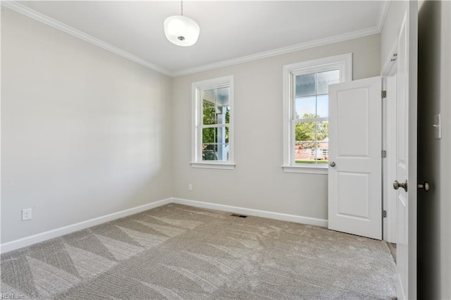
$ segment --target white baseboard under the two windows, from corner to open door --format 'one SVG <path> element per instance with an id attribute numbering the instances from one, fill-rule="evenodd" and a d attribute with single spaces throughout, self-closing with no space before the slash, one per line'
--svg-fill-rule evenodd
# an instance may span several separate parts
<path id="1" fill-rule="evenodd" d="M 252 208 L 242 208 L 237 206 L 228 206 L 223 204 L 213 204 L 209 202 L 194 201 L 180 198 L 173 198 L 173 203 L 185 204 L 188 206 L 195 206 L 199 208 L 216 209 L 217 211 L 230 211 L 230 213 L 240 213 L 242 215 L 255 215 L 257 217 L 269 218 L 275 220 L 289 221 L 294 223 L 301 223 L 307 225 L 315 225 L 321 227 L 328 227 L 328 220 L 303 217 L 302 215 L 288 215 L 286 213 L 273 213 L 272 211 L 259 211 Z"/>

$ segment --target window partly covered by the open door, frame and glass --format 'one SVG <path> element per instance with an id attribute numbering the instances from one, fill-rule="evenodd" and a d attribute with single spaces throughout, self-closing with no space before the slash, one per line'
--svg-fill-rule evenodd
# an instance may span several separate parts
<path id="1" fill-rule="evenodd" d="M 326 174 L 328 85 L 351 80 L 352 54 L 283 67 L 283 170 Z"/>

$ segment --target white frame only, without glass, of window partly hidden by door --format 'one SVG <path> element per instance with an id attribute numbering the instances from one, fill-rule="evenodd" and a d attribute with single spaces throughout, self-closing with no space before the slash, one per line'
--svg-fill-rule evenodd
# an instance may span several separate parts
<path id="1" fill-rule="evenodd" d="M 292 63 L 283 66 L 283 171 L 287 173 L 328 174 L 328 165 L 295 163 L 295 76 L 340 70 L 340 82 L 352 80 L 352 53 Z M 327 118 L 328 119 L 328 118 Z"/>

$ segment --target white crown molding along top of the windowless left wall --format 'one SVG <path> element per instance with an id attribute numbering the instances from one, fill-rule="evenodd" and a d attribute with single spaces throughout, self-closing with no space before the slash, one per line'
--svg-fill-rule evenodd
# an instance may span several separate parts
<path id="1" fill-rule="evenodd" d="M 35 19 L 41 23 L 49 25 L 51 27 L 56 28 L 57 30 L 61 30 L 62 32 L 66 32 L 68 35 L 72 35 L 73 37 L 78 37 L 89 44 L 93 44 L 95 46 L 99 46 L 101 49 L 105 49 L 106 51 L 110 51 L 113 54 L 117 54 L 118 56 L 122 56 L 123 58 L 127 58 L 130 61 L 134 61 L 135 63 L 139 63 L 140 65 L 144 65 L 144 67 L 155 70 L 159 73 L 163 73 L 164 75 L 172 76 L 169 70 L 159 67 L 158 65 L 154 65 L 153 63 L 149 63 L 149 61 L 145 61 L 144 59 L 135 56 L 133 54 L 128 53 L 127 51 L 123 51 L 116 46 L 108 44 L 106 42 L 101 41 L 91 35 L 87 35 L 85 32 L 81 32 L 80 30 L 76 30 L 73 27 L 70 27 L 64 23 L 59 22 L 53 18 L 48 17 L 47 15 L 43 15 L 42 13 L 38 13 L 37 11 L 24 6 L 23 4 L 19 4 L 16 1 L 1 1 L 1 6 L 9 8 L 13 11 L 21 13 L 29 18 Z"/>

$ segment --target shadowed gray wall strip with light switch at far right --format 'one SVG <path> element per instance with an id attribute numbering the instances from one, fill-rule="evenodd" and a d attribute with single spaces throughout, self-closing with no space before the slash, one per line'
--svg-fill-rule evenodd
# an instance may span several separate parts
<path id="1" fill-rule="evenodd" d="M 451 299 L 451 4 L 424 1 L 419 10 L 418 179 L 431 191 L 418 193 L 418 297 Z M 441 113 L 443 138 L 433 135 Z"/>

